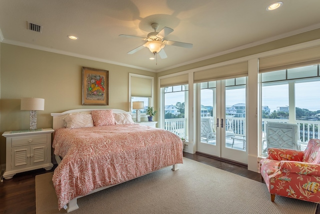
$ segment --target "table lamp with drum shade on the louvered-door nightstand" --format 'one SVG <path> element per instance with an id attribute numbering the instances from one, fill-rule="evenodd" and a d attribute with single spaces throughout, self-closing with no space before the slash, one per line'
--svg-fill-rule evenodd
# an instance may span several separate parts
<path id="1" fill-rule="evenodd" d="M 21 98 L 21 110 L 30 111 L 30 130 L 36 129 L 36 111 L 44 110 L 44 99 Z"/>

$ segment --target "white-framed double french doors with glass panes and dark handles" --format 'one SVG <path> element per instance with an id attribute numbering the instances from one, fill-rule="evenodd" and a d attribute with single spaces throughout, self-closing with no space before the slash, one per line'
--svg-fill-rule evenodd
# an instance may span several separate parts
<path id="1" fill-rule="evenodd" d="M 197 84 L 197 151 L 247 163 L 246 77 Z"/>

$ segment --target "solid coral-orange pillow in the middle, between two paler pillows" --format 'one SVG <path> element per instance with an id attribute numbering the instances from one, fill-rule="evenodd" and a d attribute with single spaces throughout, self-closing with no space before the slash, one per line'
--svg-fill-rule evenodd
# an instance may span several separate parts
<path id="1" fill-rule="evenodd" d="M 115 125 L 112 110 L 93 110 L 91 111 L 94 126 Z"/>

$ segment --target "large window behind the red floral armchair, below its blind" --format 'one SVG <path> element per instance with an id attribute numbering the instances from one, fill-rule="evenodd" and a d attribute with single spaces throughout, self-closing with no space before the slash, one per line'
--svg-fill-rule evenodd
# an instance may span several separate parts
<path id="1" fill-rule="evenodd" d="M 319 65 L 302 66 L 260 74 L 260 152 L 266 155 L 265 125 L 268 121 L 297 124 L 298 148 L 304 150 L 310 138 L 319 139 Z"/>

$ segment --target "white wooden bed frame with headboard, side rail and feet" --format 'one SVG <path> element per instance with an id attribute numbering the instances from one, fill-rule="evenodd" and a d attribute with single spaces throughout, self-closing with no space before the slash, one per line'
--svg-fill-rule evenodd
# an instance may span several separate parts
<path id="1" fill-rule="evenodd" d="M 123 111 L 121 109 L 73 109 L 73 110 L 69 110 L 69 111 L 65 111 L 65 112 L 62 112 L 62 113 L 51 113 L 51 116 L 53 117 L 53 124 L 52 124 L 52 128 L 54 130 L 58 129 L 58 128 L 63 128 L 64 127 L 64 124 L 65 124 L 65 121 L 64 121 L 64 117 L 67 115 L 67 114 L 70 114 L 70 113 L 89 113 L 91 112 L 92 110 L 112 110 L 113 113 L 127 113 L 127 114 L 130 114 L 131 112 L 126 112 L 126 111 Z M 53 133 L 54 134 L 54 133 Z M 57 164 L 60 164 L 61 162 L 61 158 L 57 155 L 54 155 L 54 158 L 57 162 Z M 173 171 L 176 171 L 178 170 L 178 167 L 177 167 L 177 164 L 174 164 L 172 165 L 172 169 Z M 148 174 L 148 173 L 147 173 Z M 143 176 L 143 175 L 142 175 Z M 134 179 L 134 178 L 133 178 Z M 126 181 L 124 181 L 126 182 Z M 117 183 L 119 184 L 119 183 Z M 117 184 L 114 184 L 114 185 L 117 185 Z M 100 191 L 100 190 L 103 190 L 103 189 L 106 189 L 106 188 L 109 188 L 111 186 L 114 186 L 114 185 L 109 185 L 109 186 L 103 186 L 103 187 L 100 187 L 100 188 L 97 188 L 97 189 L 94 189 L 92 190 L 91 192 L 89 192 L 88 194 L 91 194 L 91 193 L 94 193 L 94 192 L 97 192 L 97 191 Z M 86 195 L 88 195 L 86 194 Z M 75 209 L 78 209 L 79 206 L 77 205 L 77 198 L 79 197 L 82 197 L 82 196 L 85 196 L 85 195 L 81 195 L 81 196 L 78 196 L 76 198 L 73 198 L 72 200 L 70 200 L 68 202 L 67 205 L 65 205 L 63 208 L 66 209 L 67 212 L 70 212 L 70 211 L 73 211 Z"/>

